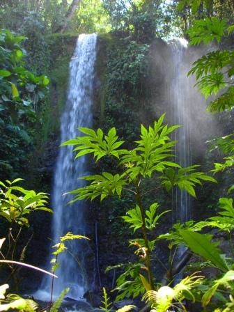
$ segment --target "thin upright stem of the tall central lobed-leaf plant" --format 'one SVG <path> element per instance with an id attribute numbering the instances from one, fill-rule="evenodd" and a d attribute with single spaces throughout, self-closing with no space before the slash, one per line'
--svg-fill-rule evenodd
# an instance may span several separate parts
<path id="1" fill-rule="evenodd" d="M 149 248 L 149 244 L 148 244 L 148 236 L 146 233 L 146 214 L 145 214 L 145 210 L 143 209 L 143 204 L 141 201 L 141 192 L 140 192 L 139 185 L 137 186 L 136 199 L 137 199 L 137 204 L 139 205 L 139 208 L 141 210 L 141 217 L 142 217 L 141 231 L 142 231 L 143 240 L 144 240 L 145 246 L 146 246 L 145 264 L 146 264 L 147 273 L 148 273 L 148 282 L 150 283 L 151 290 L 154 290 L 155 286 L 153 283 L 153 274 L 152 274 L 151 265 L 150 265 L 150 248 Z"/>

